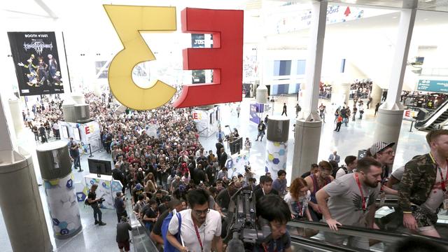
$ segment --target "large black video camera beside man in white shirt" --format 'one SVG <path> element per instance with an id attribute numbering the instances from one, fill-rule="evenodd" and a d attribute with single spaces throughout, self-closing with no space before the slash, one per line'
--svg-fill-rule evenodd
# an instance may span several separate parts
<path id="1" fill-rule="evenodd" d="M 269 222 L 261 217 L 257 219 L 255 197 L 251 190 L 239 190 L 230 200 L 227 235 L 224 242 L 241 240 L 244 251 L 252 251 L 256 244 L 262 244 L 271 238 Z M 257 225 L 258 224 L 258 225 Z M 235 243 L 236 244 L 236 243 Z M 229 251 L 241 251 L 243 248 L 232 248 Z"/>

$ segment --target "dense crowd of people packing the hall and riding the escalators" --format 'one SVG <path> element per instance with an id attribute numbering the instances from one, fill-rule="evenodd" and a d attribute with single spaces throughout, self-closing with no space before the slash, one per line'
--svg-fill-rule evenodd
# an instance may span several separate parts
<path id="1" fill-rule="evenodd" d="M 398 195 L 400 207 L 395 209 L 402 225 L 421 235 L 440 237 L 435 229 L 440 205 L 445 200 L 448 182 L 447 130 L 436 130 L 426 137 L 430 153 L 418 155 L 391 174 L 395 158 L 394 143 L 374 143 L 367 158 L 354 155 L 341 158 L 332 153 L 329 161 L 312 164 L 299 178 L 292 178 L 288 187 L 286 171 L 280 170 L 275 179 L 267 172 L 258 181 L 250 166 L 244 174 L 229 177 L 225 167 L 227 153 L 223 139 L 218 138 L 216 150 L 206 151 L 200 144 L 190 109 L 169 109 L 163 106 L 153 111 L 115 113 L 106 97 L 85 94 L 93 118 L 102 129 L 104 149 L 113 160 L 113 179 L 125 186 L 115 200 L 117 242 L 120 251 L 129 251 L 130 230 L 127 204 L 132 214 L 144 223 L 151 239 L 159 247 L 178 251 L 225 251 L 223 238 L 230 220 L 226 218 L 232 196 L 239 190 L 253 192 L 256 212 L 272 230 L 272 237 L 258 244 L 253 251 L 292 251 L 290 232 L 311 237 L 317 230 L 287 228 L 290 220 L 324 221 L 330 229 L 341 225 L 363 228 L 384 228 L 374 223 L 377 198 L 386 193 Z M 37 120 L 57 120 L 58 102 L 50 103 L 51 112 L 36 113 Z M 323 108 L 325 109 L 325 108 Z M 345 117 L 350 117 L 350 110 Z M 356 113 L 356 112 L 355 112 Z M 343 114 L 339 111 L 339 116 Z M 342 116 L 341 116 L 342 117 Z M 25 120 L 25 118 L 24 118 Z M 342 123 L 344 120 L 342 120 Z M 339 122 L 338 122 L 339 123 Z M 148 125 L 158 125 L 156 135 L 149 135 Z M 265 126 L 259 125 L 258 137 Z M 339 126 L 340 128 L 340 126 Z M 260 174 L 258 174 L 260 175 Z M 397 187 L 397 183 L 400 186 Z M 97 204 L 101 201 L 89 193 L 94 209 L 95 224 L 105 225 Z M 130 196 L 127 202 L 125 195 Z M 131 213 L 130 213 L 131 214 Z M 369 249 L 374 241 L 368 237 L 351 237 L 334 232 L 324 233 L 325 241 Z M 168 250 L 169 251 L 169 250 Z"/>

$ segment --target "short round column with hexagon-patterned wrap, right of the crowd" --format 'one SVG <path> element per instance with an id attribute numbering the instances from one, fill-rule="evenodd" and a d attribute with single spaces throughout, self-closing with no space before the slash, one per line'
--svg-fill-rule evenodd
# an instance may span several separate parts
<path id="1" fill-rule="evenodd" d="M 277 172 L 286 171 L 288 160 L 289 119 L 283 116 L 272 116 L 267 119 L 265 171 L 270 172 L 272 179 Z"/>

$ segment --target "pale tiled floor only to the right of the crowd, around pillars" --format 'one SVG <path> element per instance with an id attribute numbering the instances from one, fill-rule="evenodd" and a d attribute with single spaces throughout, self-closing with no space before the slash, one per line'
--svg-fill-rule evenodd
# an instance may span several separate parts
<path id="1" fill-rule="evenodd" d="M 280 116 L 283 102 L 288 104 L 288 118 L 290 119 L 290 134 L 288 137 L 288 162 L 286 172 L 290 174 L 293 165 L 293 150 L 294 150 L 294 132 L 293 125 L 295 124 L 295 97 L 278 97 L 278 100 L 274 103 L 274 115 Z M 326 122 L 323 124 L 321 132 L 321 147 L 319 149 L 318 160 L 328 160 L 328 156 L 332 151 L 337 151 L 341 156 L 341 161 L 347 155 L 358 155 L 358 150 L 367 149 L 373 144 L 373 132 L 375 130 L 375 118 L 373 116 L 374 109 L 365 110 L 363 120 L 356 120 L 355 122 L 350 121 L 348 126 L 342 125 L 340 132 L 334 132 L 335 125 L 332 121 L 334 117 L 334 110 L 331 108 L 330 101 L 322 100 L 319 104 L 325 104 L 327 106 L 327 118 Z M 230 125 L 233 129 L 236 127 L 238 129 L 239 135 L 245 139 L 249 137 L 252 141 L 251 156 L 249 162 L 251 162 L 252 171 L 256 173 L 259 177 L 265 172 L 265 146 L 266 139 L 264 138 L 262 142 L 255 141 L 257 137 L 257 125 L 249 121 L 249 106 L 254 103 L 253 99 L 244 99 L 241 102 L 241 114 L 237 118 L 237 113 L 235 111 L 236 104 L 222 107 L 222 123 L 221 125 Z M 351 102 L 349 103 L 351 105 Z M 269 114 L 269 116 L 271 116 Z M 265 118 L 265 115 L 262 116 Z M 400 142 L 398 143 L 398 148 L 395 154 L 395 163 L 393 168 L 396 169 L 404 165 L 408 160 L 410 160 L 414 155 L 420 153 L 426 153 L 429 151 L 428 145 L 426 144 L 425 135 L 426 132 L 418 132 L 412 130 L 409 132 L 411 123 L 409 121 L 403 121 L 401 132 L 400 132 Z M 228 130 L 227 130 L 228 131 Z M 225 132 L 228 133 L 228 132 Z M 201 143 L 206 148 L 206 150 L 216 151 L 216 136 L 212 135 L 209 138 L 201 138 Z M 227 146 L 226 146 L 227 151 Z M 342 161 L 343 162 L 343 161 Z M 290 177 L 288 182 L 290 181 Z"/>

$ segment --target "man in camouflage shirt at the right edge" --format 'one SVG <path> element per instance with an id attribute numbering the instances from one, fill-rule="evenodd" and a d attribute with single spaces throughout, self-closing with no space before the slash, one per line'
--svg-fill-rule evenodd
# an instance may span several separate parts
<path id="1" fill-rule="evenodd" d="M 430 153 L 405 165 L 398 204 L 403 210 L 405 228 L 440 237 L 435 224 L 440 204 L 447 199 L 448 130 L 433 130 L 426 135 L 426 141 Z"/>

